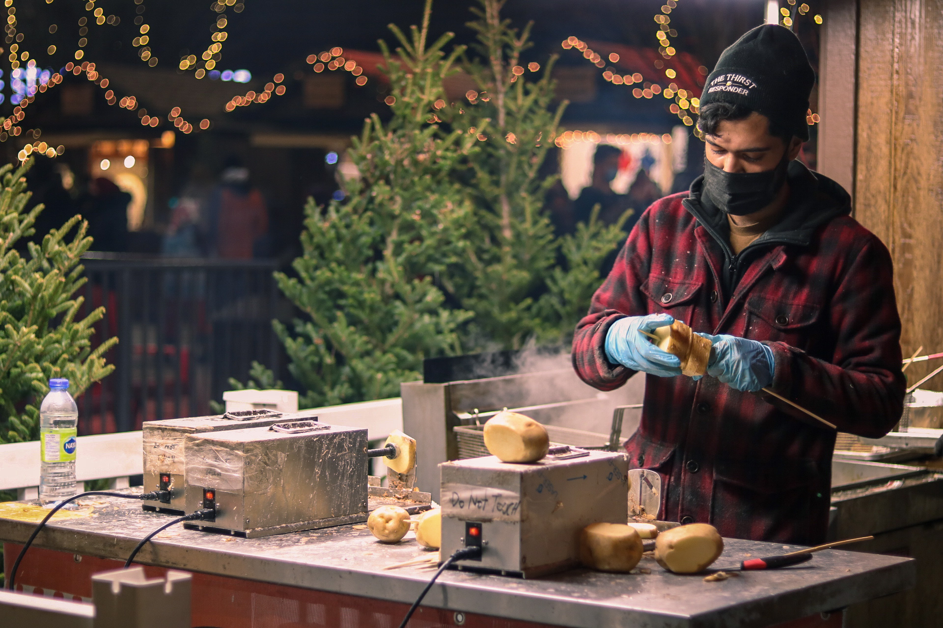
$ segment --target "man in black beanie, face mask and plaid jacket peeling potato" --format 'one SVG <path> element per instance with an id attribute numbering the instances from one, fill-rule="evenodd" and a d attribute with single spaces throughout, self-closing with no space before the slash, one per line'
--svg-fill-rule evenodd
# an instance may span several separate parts
<path id="1" fill-rule="evenodd" d="M 825 538 L 835 430 L 879 437 L 902 413 L 901 323 L 884 245 L 835 182 L 793 161 L 815 75 L 786 28 L 753 29 L 703 90 L 704 175 L 639 219 L 573 339 L 587 383 L 647 374 L 626 443 L 662 477 L 660 517 L 725 537 Z M 640 331 L 710 332 L 707 374 Z"/>

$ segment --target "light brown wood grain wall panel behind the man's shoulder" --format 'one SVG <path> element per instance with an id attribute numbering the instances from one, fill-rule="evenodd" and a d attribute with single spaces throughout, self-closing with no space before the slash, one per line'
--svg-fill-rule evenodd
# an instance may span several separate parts
<path id="1" fill-rule="evenodd" d="M 904 354 L 943 351 L 943 0 L 860 0 L 858 38 L 855 217 L 891 251 Z"/>

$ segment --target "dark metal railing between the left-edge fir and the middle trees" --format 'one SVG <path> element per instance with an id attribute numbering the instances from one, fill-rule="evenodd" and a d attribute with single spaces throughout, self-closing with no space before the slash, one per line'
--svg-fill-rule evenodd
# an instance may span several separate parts
<path id="1" fill-rule="evenodd" d="M 275 262 L 92 252 L 82 263 L 85 313 L 106 307 L 93 345 L 113 335 L 120 342 L 107 355 L 114 373 L 76 399 L 81 433 L 207 414 L 254 360 L 281 370 Z"/>

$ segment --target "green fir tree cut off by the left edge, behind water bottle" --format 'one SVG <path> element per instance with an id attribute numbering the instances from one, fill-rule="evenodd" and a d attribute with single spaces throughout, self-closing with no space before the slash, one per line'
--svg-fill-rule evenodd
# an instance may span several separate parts
<path id="1" fill-rule="evenodd" d="M 43 208 L 38 204 L 25 212 L 30 194 L 24 173 L 32 163 L 0 168 L 0 443 L 38 438 L 48 380 L 68 378 L 69 392 L 81 395 L 114 370 L 103 356 L 118 342 L 110 338 L 91 348 L 92 326 L 105 308 L 76 320 L 83 298 L 74 294 L 86 282 L 79 260 L 91 246 L 81 217 L 46 234 L 40 244 L 28 242 L 25 254 L 16 248 L 34 233 Z"/>

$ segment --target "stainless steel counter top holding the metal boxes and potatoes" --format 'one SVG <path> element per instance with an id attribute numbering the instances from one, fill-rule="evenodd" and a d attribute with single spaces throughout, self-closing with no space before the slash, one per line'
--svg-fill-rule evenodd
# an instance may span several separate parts
<path id="1" fill-rule="evenodd" d="M 91 514 L 54 523 L 36 545 L 88 556 L 124 559 L 139 539 L 170 515 L 141 504 L 91 498 Z M 23 542 L 34 523 L 0 519 L 0 539 Z M 725 539 L 716 567 L 747 556 L 783 554 L 793 547 Z M 381 544 L 352 525 L 262 539 L 240 539 L 175 526 L 157 536 L 139 562 L 279 585 L 321 589 L 401 603 L 412 602 L 432 575 L 418 568 L 382 568 L 423 554 L 415 540 Z M 29 561 L 29 556 L 25 558 Z M 831 611 L 914 586 L 915 561 L 827 550 L 809 563 L 705 583 L 703 574 L 606 574 L 573 570 L 536 580 L 445 572 L 423 604 L 455 611 L 560 626 L 768 626 Z"/>

